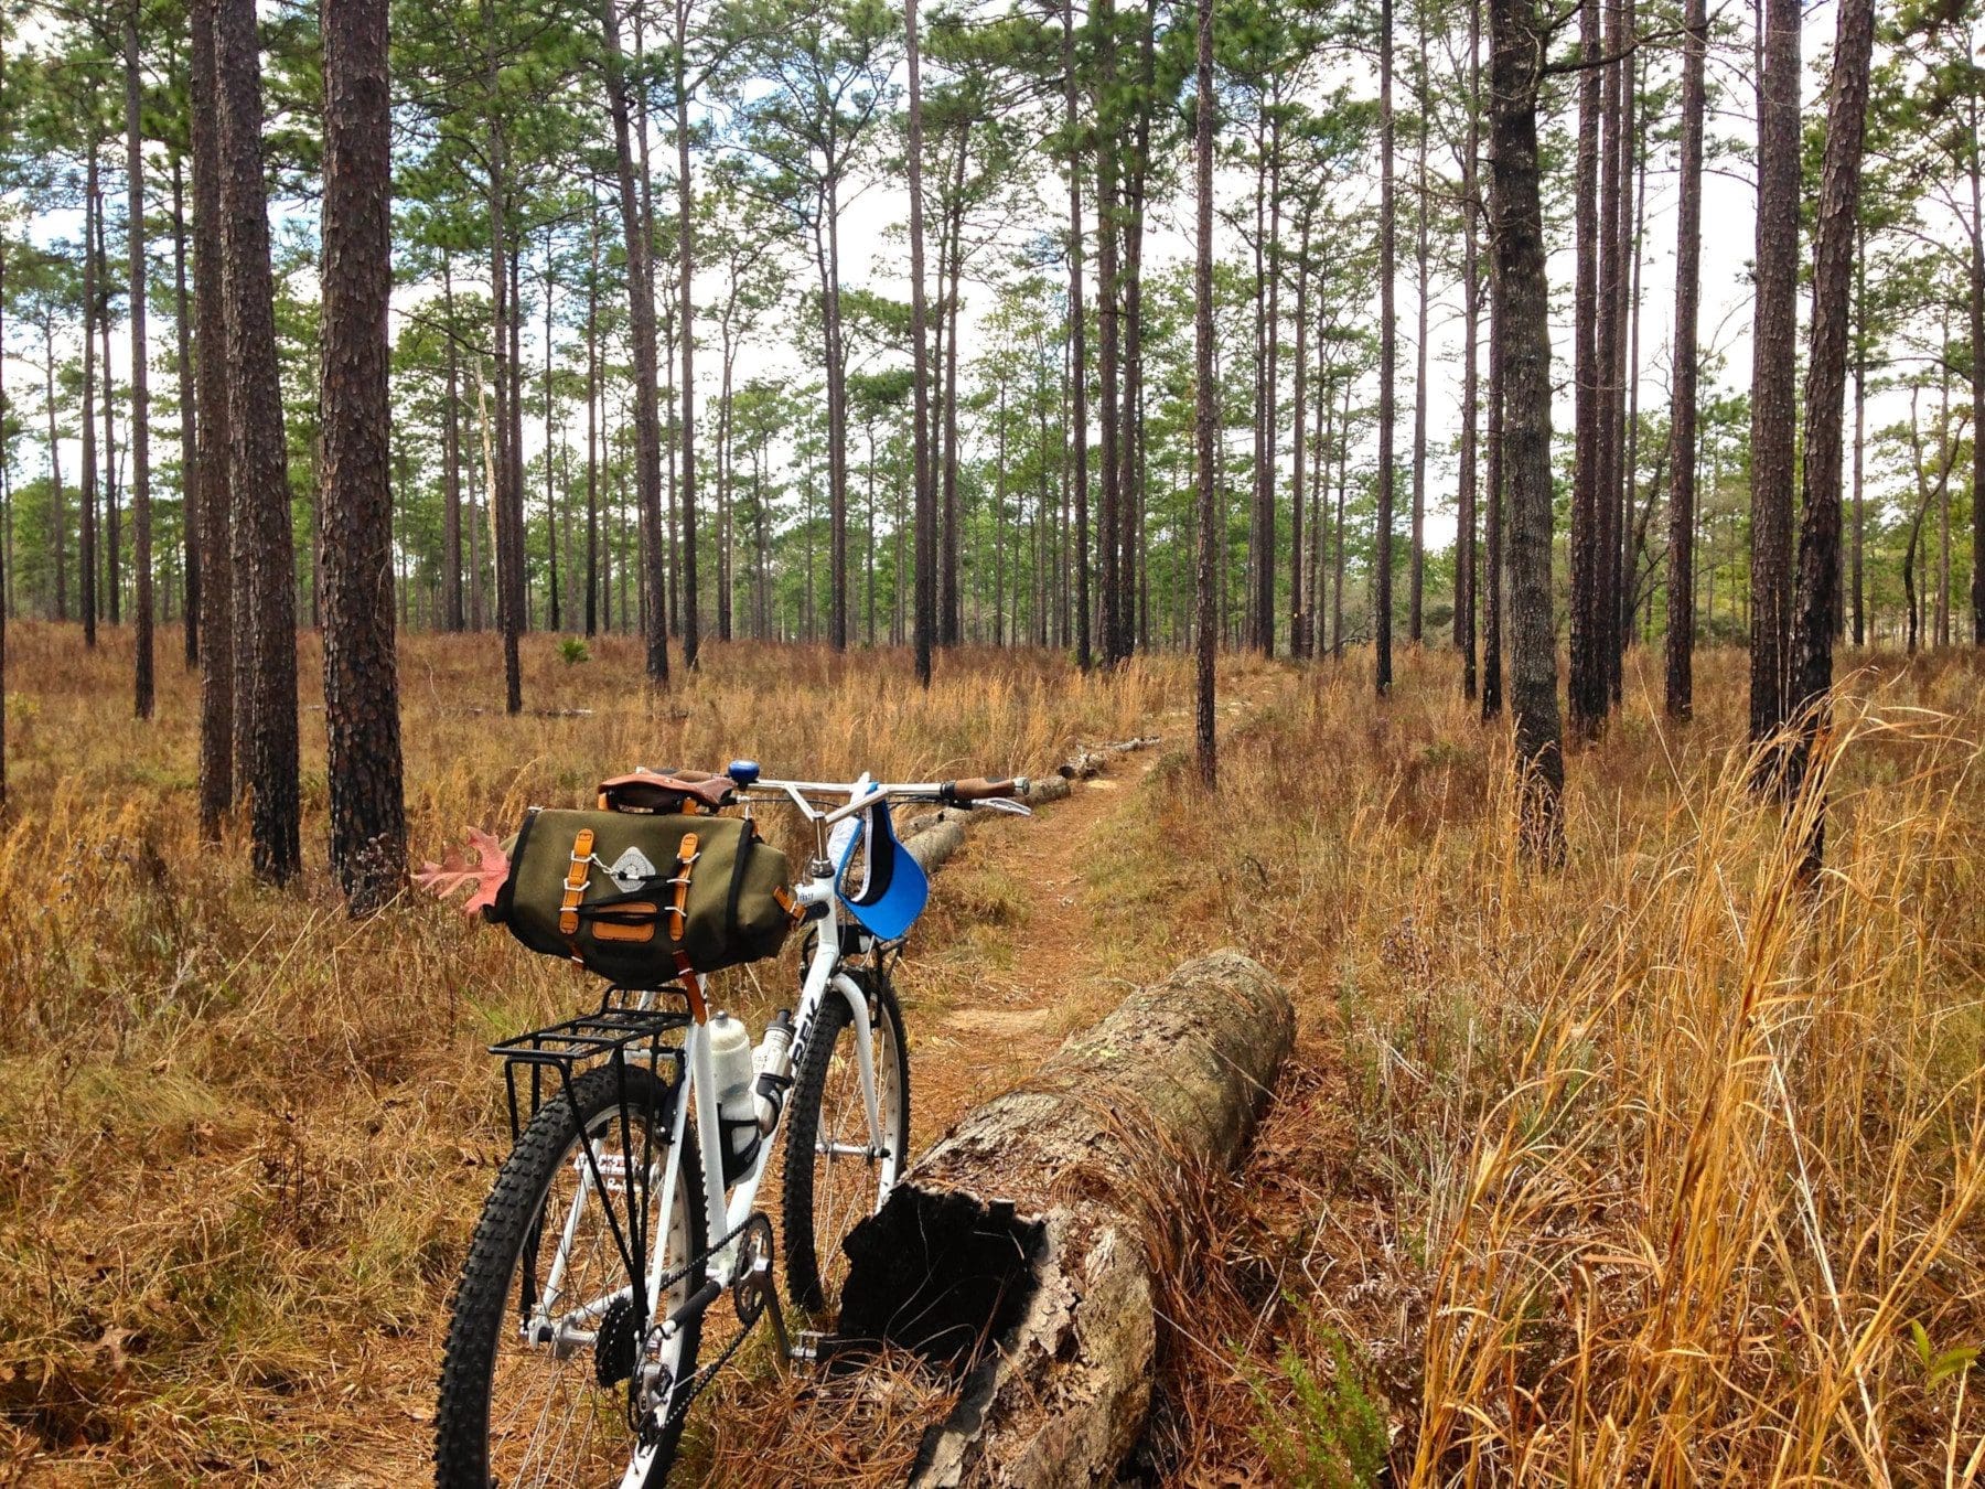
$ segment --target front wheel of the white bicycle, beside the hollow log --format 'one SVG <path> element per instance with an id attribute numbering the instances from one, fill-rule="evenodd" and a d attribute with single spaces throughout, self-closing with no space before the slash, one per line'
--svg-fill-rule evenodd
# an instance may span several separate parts
<path id="1" fill-rule="evenodd" d="M 786 1134 L 786 1290 L 814 1314 L 840 1306 L 842 1241 L 881 1209 L 909 1157 L 909 1046 L 895 989 L 879 973 L 850 971 L 869 1015 L 879 1138 L 869 1130 L 854 1015 L 834 989 L 820 1005 L 792 1088 Z"/>

